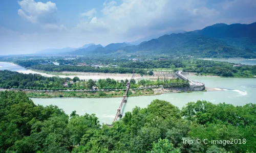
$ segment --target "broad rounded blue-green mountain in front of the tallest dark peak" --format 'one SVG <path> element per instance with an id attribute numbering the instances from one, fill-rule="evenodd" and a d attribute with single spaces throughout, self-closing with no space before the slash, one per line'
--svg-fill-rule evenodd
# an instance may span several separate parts
<path id="1" fill-rule="evenodd" d="M 191 55 L 196 57 L 256 57 L 249 49 L 238 49 L 218 40 L 193 33 L 164 35 L 137 46 L 123 48 L 125 52 L 150 52 L 156 54 Z"/>

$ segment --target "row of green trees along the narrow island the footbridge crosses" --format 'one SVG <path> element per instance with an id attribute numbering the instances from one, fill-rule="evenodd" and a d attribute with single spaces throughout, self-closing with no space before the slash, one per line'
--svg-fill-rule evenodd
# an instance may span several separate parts
<path id="1" fill-rule="evenodd" d="M 84 89 L 125 89 L 126 84 L 129 82 L 121 80 L 115 81 L 114 79 L 100 79 L 93 81 L 92 79 L 85 81 L 79 80 L 78 77 L 58 78 L 58 77 L 42 77 L 40 74 L 23 74 L 13 71 L 0 71 L 0 87 L 5 89 L 18 88 L 18 89 L 31 89 L 31 90 L 84 90 Z M 170 79 L 159 81 L 141 80 L 138 83 L 134 79 L 130 80 L 131 88 L 143 87 L 189 87 L 187 81 L 179 79 Z"/>

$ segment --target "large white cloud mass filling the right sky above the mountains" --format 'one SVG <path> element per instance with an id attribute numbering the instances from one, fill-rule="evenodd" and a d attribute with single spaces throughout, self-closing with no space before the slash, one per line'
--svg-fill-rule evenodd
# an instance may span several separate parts
<path id="1" fill-rule="evenodd" d="M 108 35 L 105 41 L 118 37 L 121 42 L 177 30 L 193 31 L 218 22 L 250 23 L 253 22 L 252 17 L 256 13 L 255 9 L 252 9 L 256 3 L 253 1 L 123 0 L 121 4 L 106 1 L 103 3 L 101 17 L 82 20 L 76 28 L 79 27 L 83 32 Z M 239 5 L 243 7 L 239 8 Z M 246 8 L 251 9 L 248 11 Z M 237 15 L 232 16 L 233 14 Z M 92 22 L 95 22 L 95 26 L 91 26 Z M 106 34 L 98 29 L 104 29 Z"/>

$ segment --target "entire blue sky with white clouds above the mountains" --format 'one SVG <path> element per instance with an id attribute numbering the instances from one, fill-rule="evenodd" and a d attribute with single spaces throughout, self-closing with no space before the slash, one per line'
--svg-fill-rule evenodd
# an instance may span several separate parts
<path id="1" fill-rule="evenodd" d="M 0 55 L 255 21 L 255 0 L 1 0 Z"/>

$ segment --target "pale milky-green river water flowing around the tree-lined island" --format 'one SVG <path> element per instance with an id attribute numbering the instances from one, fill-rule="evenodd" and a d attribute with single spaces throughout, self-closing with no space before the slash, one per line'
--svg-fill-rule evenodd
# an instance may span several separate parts
<path id="1" fill-rule="evenodd" d="M 0 69 L 12 71 L 23 70 L 23 67 L 10 63 L 0 62 Z M 214 104 L 226 103 L 234 106 L 243 106 L 248 103 L 256 104 L 256 79 L 246 78 L 217 78 L 197 77 L 188 75 L 194 81 L 202 82 L 206 87 L 223 89 L 222 91 L 198 91 L 191 93 L 165 93 L 154 96 L 129 97 L 121 112 L 132 111 L 135 106 L 144 108 L 154 99 L 169 101 L 180 109 L 190 101 L 207 100 Z M 100 123 L 111 124 L 116 110 L 121 103 L 120 98 L 31 98 L 36 105 L 56 105 L 67 114 L 76 110 L 77 114 L 96 114 Z"/>

